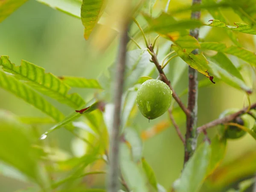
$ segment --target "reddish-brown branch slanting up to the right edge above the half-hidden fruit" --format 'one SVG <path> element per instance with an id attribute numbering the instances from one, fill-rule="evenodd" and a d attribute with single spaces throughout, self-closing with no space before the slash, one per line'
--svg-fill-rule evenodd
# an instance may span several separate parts
<path id="1" fill-rule="evenodd" d="M 220 124 L 223 124 L 223 123 L 230 122 L 230 121 L 232 121 L 233 119 L 235 119 L 237 116 L 246 113 L 246 111 L 247 111 L 248 108 L 249 108 L 249 106 L 246 107 L 246 108 L 243 108 L 243 109 L 241 109 L 240 111 L 237 111 L 236 113 L 233 113 L 233 114 L 231 114 L 231 115 L 229 115 L 229 116 L 225 116 L 225 117 L 223 117 L 223 118 L 221 118 L 221 119 L 215 119 L 215 120 L 213 120 L 213 121 L 211 121 L 211 122 L 209 122 L 209 123 L 207 123 L 207 124 L 205 124 L 205 125 L 202 125 L 201 127 L 198 127 L 198 128 L 197 128 L 197 131 L 198 131 L 198 133 L 200 133 L 200 132 L 202 132 L 202 131 L 204 131 L 204 130 L 206 130 L 206 129 L 208 129 L 208 128 L 214 127 L 214 126 L 216 126 L 216 125 L 220 125 Z M 250 108 L 251 108 L 251 109 L 255 109 L 255 108 L 256 108 L 256 103 L 254 103 L 253 105 L 251 105 Z"/>

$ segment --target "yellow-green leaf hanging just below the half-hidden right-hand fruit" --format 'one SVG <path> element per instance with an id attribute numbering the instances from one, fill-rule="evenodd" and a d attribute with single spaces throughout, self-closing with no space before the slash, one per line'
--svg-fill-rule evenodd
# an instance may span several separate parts
<path id="1" fill-rule="evenodd" d="M 221 160 L 224 159 L 226 152 L 227 140 L 219 139 L 218 136 L 215 136 L 211 142 L 211 158 L 207 168 L 207 175 L 211 174 L 216 167 L 221 163 Z"/>

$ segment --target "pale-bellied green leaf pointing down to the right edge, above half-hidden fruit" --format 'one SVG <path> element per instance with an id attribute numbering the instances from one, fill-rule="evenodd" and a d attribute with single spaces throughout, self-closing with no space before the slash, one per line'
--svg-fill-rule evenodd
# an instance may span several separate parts
<path id="1" fill-rule="evenodd" d="M 237 77 L 230 74 L 227 70 L 224 70 L 221 68 L 221 63 L 214 63 L 209 60 L 209 66 L 211 67 L 211 71 L 218 79 L 221 79 L 221 81 L 224 81 L 228 85 L 235 87 L 236 89 L 242 89 L 247 93 L 252 93 L 252 89 L 248 87 L 244 81 L 241 79 L 238 79 Z"/>

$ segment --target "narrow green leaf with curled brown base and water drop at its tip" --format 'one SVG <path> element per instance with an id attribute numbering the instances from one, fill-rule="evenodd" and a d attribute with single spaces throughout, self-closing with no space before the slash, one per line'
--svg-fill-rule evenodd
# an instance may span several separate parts
<path id="1" fill-rule="evenodd" d="M 70 113 L 68 116 L 66 116 L 64 119 L 62 119 L 60 122 L 58 122 L 56 125 L 54 125 L 52 128 L 50 128 L 48 131 L 46 131 L 44 134 L 41 135 L 41 139 L 45 139 L 47 135 L 55 131 L 58 128 L 63 127 L 64 125 L 67 125 L 68 123 L 74 121 L 75 119 L 78 119 L 82 114 L 84 113 L 90 113 L 98 108 L 99 102 L 93 103 L 93 105 L 86 107 L 82 109 L 81 111 L 75 111 L 73 113 Z"/>

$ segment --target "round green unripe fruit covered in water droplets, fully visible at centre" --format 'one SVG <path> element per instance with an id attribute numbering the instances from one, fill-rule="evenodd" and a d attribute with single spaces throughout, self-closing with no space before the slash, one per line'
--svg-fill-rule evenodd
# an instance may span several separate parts
<path id="1" fill-rule="evenodd" d="M 136 104 L 147 119 L 156 119 L 170 107 L 172 90 L 163 81 L 149 79 L 137 91 Z"/>

